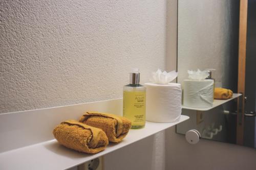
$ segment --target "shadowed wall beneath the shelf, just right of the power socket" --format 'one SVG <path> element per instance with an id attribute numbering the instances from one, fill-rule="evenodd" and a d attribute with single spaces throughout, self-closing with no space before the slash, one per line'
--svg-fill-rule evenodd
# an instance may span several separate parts
<path id="1" fill-rule="evenodd" d="M 164 170 L 164 131 L 104 156 L 105 170 Z"/>

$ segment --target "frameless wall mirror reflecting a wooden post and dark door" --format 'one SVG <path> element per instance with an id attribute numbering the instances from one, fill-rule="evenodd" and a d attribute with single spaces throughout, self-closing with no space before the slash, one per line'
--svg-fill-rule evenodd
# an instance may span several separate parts
<path id="1" fill-rule="evenodd" d="M 183 108 L 190 119 L 177 133 L 196 129 L 204 139 L 256 147 L 255 10 L 256 0 L 178 1 L 178 83 L 188 69 L 214 68 L 217 87 L 242 95 L 207 111 Z"/>

